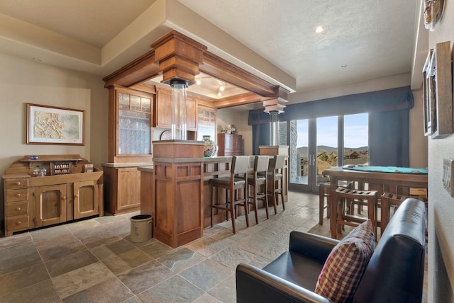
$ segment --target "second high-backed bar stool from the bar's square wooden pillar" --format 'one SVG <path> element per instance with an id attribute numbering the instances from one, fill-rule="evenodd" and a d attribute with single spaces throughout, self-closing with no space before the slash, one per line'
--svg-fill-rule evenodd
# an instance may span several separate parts
<path id="1" fill-rule="evenodd" d="M 268 215 L 268 195 L 267 195 L 267 188 L 268 188 L 268 179 L 265 176 L 268 169 L 268 164 L 270 162 L 269 156 L 255 156 L 254 159 L 254 172 L 252 176 L 248 176 L 248 204 L 253 205 L 255 208 L 255 222 L 258 224 L 258 217 L 257 217 L 257 201 L 262 200 L 263 205 L 265 206 L 265 212 L 267 214 L 267 219 L 270 219 Z M 263 190 L 260 190 L 263 188 Z"/>

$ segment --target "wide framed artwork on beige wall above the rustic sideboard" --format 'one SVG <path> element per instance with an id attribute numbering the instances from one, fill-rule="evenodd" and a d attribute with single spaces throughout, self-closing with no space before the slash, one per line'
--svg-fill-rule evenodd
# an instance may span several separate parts
<path id="1" fill-rule="evenodd" d="M 27 144 L 84 145 L 85 110 L 27 103 Z"/>

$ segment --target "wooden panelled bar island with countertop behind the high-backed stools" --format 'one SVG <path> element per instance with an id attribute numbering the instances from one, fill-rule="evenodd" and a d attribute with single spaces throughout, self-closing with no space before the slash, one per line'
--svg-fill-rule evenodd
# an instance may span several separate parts
<path id="1" fill-rule="evenodd" d="M 230 176 L 232 156 L 191 157 L 189 150 L 200 147 L 203 155 L 203 144 L 199 146 L 194 141 L 180 142 L 177 149 L 184 149 L 186 157 L 172 158 L 172 152 L 168 150 L 165 154 L 157 151 L 169 148 L 165 147 L 165 141 L 162 142 L 154 142 L 153 168 L 138 168 L 141 175 L 140 209 L 143 214 L 153 215 L 155 239 L 175 248 L 199 239 L 203 236 L 203 229 L 211 227 L 209 181 Z M 250 159 L 252 171 L 254 156 Z M 284 193 L 287 198 L 287 188 L 284 188 Z M 243 192 L 239 194 L 244 195 Z M 219 195 L 219 198 L 222 196 L 225 199 L 225 195 Z M 226 212 L 219 210 L 214 214 L 213 223 L 226 219 Z"/>

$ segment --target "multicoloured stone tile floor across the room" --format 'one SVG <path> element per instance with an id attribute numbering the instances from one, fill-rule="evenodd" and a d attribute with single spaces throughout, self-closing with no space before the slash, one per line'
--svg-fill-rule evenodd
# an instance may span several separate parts
<path id="1" fill-rule="evenodd" d="M 319 196 L 289 193 L 286 210 L 259 210 L 205 229 L 172 249 L 129 239 L 133 215 L 95 217 L 0 239 L 0 302 L 236 302 L 238 263 L 263 267 L 288 248 L 289 232 L 318 222 Z"/>

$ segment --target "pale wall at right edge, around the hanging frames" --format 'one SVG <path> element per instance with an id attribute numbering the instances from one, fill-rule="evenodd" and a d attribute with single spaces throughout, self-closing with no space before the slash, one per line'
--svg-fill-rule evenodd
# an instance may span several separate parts
<path id="1" fill-rule="evenodd" d="M 429 33 L 428 48 L 454 40 L 454 4 Z M 443 110 L 443 109 L 441 109 Z M 428 139 L 428 302 L 454 302 L 454 198 L 443 188 L 443 158 L 454 159 L 454 135 Z"/>

